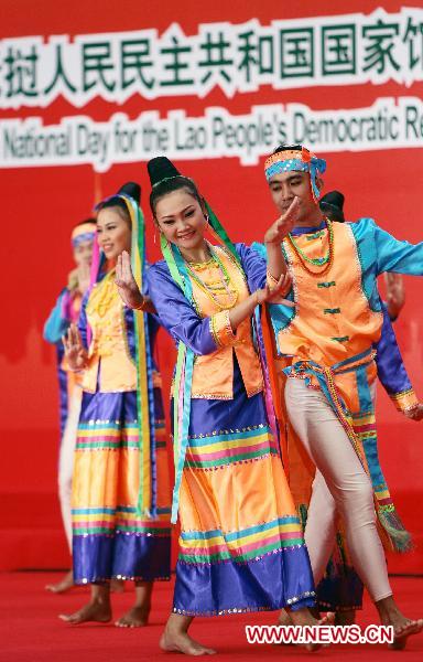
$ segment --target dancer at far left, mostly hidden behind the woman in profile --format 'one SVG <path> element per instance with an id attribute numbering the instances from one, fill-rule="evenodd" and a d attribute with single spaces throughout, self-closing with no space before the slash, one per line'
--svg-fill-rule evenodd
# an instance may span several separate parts
<path id="1" fill-rule="evenodd" d="M 44 339 L 56 345 L 59 391 L 61 447 L 58 453 L 58 495 L 66 540 L 72 555 L 70 494 L 74 467 L 76 431 L 79 420 L 82 388 L 80 376 L 69 371 L 64 357 L 62 335 L 72 322 L 78 323 L 82 300 L 89 286 L 93 243 L 96 236 L 95 218 L 78 223 L 70 236 L 76 264 L 68 276 L 67 286 L 61 291 L 56 305 L 44 325 Z M 45 588 L 52 592 L 65 592 L 74 585 L 72 569 L 57 584 Z"/>

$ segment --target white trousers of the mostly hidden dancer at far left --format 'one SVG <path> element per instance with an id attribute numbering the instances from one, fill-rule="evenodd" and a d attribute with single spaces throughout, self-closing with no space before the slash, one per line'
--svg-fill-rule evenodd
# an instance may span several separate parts
<path id="1" fill-rule="evenodd" d="M 74 452 L 78 434 L 83 391 L 75 386 L 68 402 L 67 419 L 63 431 L 58 455 L 58 498 L 61 502 L 63 526 L 72 555 L 72 477 L 74 473 Z"/>

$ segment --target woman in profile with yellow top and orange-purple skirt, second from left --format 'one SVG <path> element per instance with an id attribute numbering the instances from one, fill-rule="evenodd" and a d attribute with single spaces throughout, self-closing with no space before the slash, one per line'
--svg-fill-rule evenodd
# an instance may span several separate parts
<path id="1" fill-rule="evenodd" d="M 119 627 L 148 624 L 153 583 L 170 579 L 167 442 L 161 380 L 153 361 L 158 323 L 148 300 L 123 306 L 115 263 L 131 253 L 143 291 L 145 250 L 140 186 L 123 185 L 97 205 L 97 236 L 109 270 L 84 299 L 79 325 L 64 339 L 70 367 L 83 372 L 73 481 L 74 580 L 91 599 L 69 623 L 111 619 L 110 580 L 131 579 L 135 604 Z"/>

